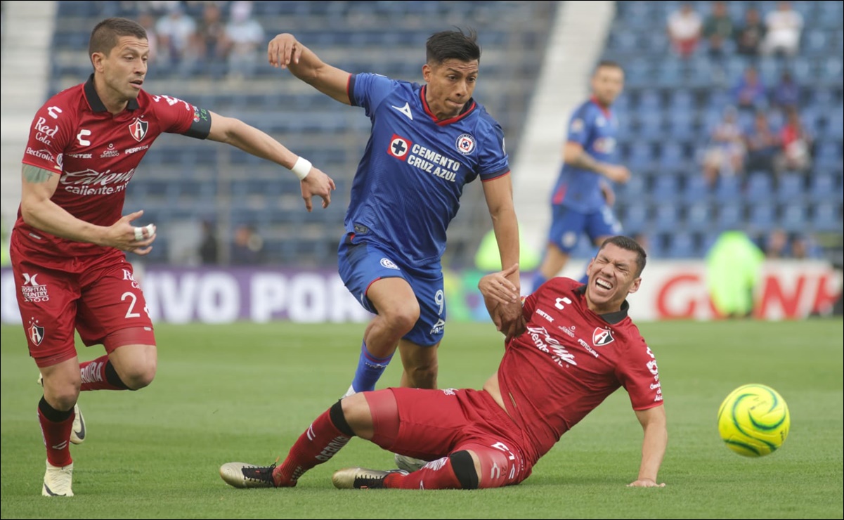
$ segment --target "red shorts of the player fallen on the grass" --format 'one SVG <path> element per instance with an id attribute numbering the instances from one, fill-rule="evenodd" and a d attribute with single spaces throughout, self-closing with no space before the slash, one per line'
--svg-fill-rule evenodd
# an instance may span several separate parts
<path id="1" fill-rule="evenodd" d="M 482 488 L 518 484 L 533 470 L 536 461 L 525 456 L 522 431 L 487 392 L 388 388 L 364 395 L 375 425 L 372 441 L 391 452 L 432 461 L 471 450 L 484 469 Z M 390 429 L 379 423 L 387 424 L 396 407 L 398 433 L 391 439 L 381 435 Z"/>

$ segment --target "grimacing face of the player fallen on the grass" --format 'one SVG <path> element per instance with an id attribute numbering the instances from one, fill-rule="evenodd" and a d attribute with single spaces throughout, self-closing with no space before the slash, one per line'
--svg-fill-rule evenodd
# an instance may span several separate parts
<path id="1" fill-rule="evenodd" d="M 619 311 L 627 295 L 639 290 L 636 268 L 636 252 L 615 244 L 603 246 L 587 268 L 589 308 L 598 313 Z"/>

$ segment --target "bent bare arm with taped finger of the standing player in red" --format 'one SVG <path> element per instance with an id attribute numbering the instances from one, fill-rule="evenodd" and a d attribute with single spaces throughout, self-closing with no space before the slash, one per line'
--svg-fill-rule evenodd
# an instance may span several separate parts
<path id="1" fill-rule="evenodd" d="M 20 213 L 26 224 L 68 240 L 116 247 L 122 251 L 137 252 L 139 255 L 145 255 L 152 250 L 155 227 L 136 228 L 131 224 L 143 211 L 126 215 L 110 226 L 85 222 L 52 202 L 58 180 L 57 173 L 33 165 L 24 165 Z"/>

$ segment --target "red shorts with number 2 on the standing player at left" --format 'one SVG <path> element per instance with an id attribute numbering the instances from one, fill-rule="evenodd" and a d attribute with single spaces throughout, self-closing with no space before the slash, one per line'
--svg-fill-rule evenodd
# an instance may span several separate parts
<path id="1" fill-rule="evenodd" d="M 127 328 L 138 331 L 106 342 L 109 352 L 122 344 L 155 344 L 147 303 L 122 252 L 41 261 L 12 240 L 11 258 L 26 341 L 38 366 L 76 355 L 74 329 L 87 346 Z"/>

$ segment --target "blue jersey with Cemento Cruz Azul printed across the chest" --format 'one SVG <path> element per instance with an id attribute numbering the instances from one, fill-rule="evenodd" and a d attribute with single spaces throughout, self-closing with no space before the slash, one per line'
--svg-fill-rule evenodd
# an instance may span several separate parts
<path id="1" fill-rule="evenodd" d="M 425 86 L 355 74 L 349 100 L 365 109 L 372 132 L 352 181 L 346 230 L 370 234 L 410 265 L 439 263 L 463 185 L 510 172 L 504 132 L 468 100 L 459 116 L 437 121 Z"/>

